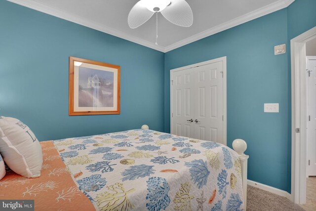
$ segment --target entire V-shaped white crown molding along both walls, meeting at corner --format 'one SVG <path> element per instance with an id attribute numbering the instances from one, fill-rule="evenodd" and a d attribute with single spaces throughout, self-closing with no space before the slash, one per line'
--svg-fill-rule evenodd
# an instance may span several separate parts
<path id="1" fill-rule="evenodd" d="M 118 38 L 122 38 L 124 40 L 128 40 L 130 42 L 135 42 L 137 44 L 141 44 L 141 45 L 144 45 L 146 47 L 150 47 L 150 48 L 153 48 L 155 50 L 158 50 L 158 51 L 161 51 L 161 52 L 165 53 L 165 52 L 168 52 L 170 50 L 173 50 L 173 49 L 176 49 L 178 47 L 181 47 L 183 45 L 189 44 L 191 42 L 198 41 L 200 39 L 203 39 L 203 38 L 206 38 L 208 36 L 214 35 L 216 33 L 219 33 L 219 32 L 225 31 L 227 29 L 233 28 L 233 27 L 238 26 L 240 24 L 243 24 L 245 22 L 254 20 L 256 18 L 259 18 L 259 17 L 262 17 L 264 15 L 270 14 L 270 13 L 275 12 L 277 10 L 283 9 L 283 8 L 289 6 L 294 0 L 278 0 L 278 1 L 274 2 L 274 3 L 271 3 L 269 5 L 261 7 L 259 9 L 254 10 L 254 11 L 251 11 L 251 12 L 249 12 L 247 14 L 241 15 L 241 16 L 239 16 L 239 17 L 237 17 L 237 18 L 235 18 L 233 20 L 230 20 L 230 21 L 228 21 L 226 23 L 220 24 L 220 25 L 215 26 L 215 27 L 213 27 L 211 29 L 208 29 L 208 30 L 205 30 L 203 32 L 197 33 L 194 36 L 191 36 L 191 37 L 186 38 L 186 39 L 184 39 L 182 41 L 173 43 L 173 44 L 171 44 L 169 46 L 166 46 L 166 47 L 163 47 L 163 46 L 160 46 L 160 45 L 156 45 L 153 42 L 149 42 L 149 41 L 140 39 L 138 37 L 135 37 L 135 36 L 123 33 L 123 32 L 121 32 L 121 31 L 119 31 L 117 29 L 110 28 L 110 27 L 107 27 L 107 26 L 104 26 L 104 25 L 100 25 L 98 23 L 95 23 L 93 21 L 89 21 L 89 20 L 84 19 L 82 17 L 79 17 L 77 15 L 69 14 L 69 13 L 67 13 L 65 11 L 62 11 L 60 9 L 57 9 L 57 8 L 54 8 L 54 7 L 51 7 L 51 6 L 48 6 L 48 5 L 45 5 L 45 4 L 40 3 L 38 1 L 35 1 L 35 0 L 8 0 L 8 1 L 20 4 L 22 6 L 29 7 L 31 9 L 38 10 L 40 12 L 44 12 L 44 13 L 49 14 L 49 15 L 56 16 L 58 18 L 62 18 L 62 19 L 65 19 L 65 20 L 68 20 L 68 21 L 80 24 L 82 26 L 89 27 L 91 29 L 98 30 L 100 32 L 104 32 L 104 33 L 116 36 Z"/>

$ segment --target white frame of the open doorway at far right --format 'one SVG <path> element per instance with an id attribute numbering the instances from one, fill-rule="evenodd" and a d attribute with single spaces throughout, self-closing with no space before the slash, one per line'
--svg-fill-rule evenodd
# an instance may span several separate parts
<path id="1" fill-rule="evenodd" d="M 306 203 L 306 42 L 315 38 L 316 27 L 291 40 L 291 197 L 296 204 Z M 296 131 L 296 128 L 300 131 Z"/>

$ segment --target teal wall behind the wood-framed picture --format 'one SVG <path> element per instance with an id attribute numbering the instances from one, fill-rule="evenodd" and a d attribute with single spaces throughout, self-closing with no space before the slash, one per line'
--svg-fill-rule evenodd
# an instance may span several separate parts
<path id="1" fill-rule="evenodd" d="M 68 116 L 69 56 L 121 66 L 121 114 Z M 0 116 L 39 140 L 148 124 L 163 130 L 164 54 L 0 0 Z"/>

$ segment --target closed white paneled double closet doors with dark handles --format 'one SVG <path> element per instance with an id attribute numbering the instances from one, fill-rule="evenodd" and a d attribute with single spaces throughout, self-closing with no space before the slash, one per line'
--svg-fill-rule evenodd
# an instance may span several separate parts
<path id="1" fill-rule="evenodd" d="M 226 144 L 224 62 L 215 59 L 171 71 L 171 133 Z"/>

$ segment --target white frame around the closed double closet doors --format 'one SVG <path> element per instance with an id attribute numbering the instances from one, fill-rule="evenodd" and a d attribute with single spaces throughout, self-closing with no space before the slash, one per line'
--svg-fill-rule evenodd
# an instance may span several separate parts
<path id="1" fill-rule="evenodd" d="M 227 145 L 227 85 L 226 85 L 226 60 L 227 57 L 220 57 L 217 59 L 212 59 L 212 60 L 208 60 L 208 61 L 204 61 L 204 62 L 200 62 L 197 64 L 192 64 L 192 65 L 188 65 L 188 66 L 184 66 L 184 67 L 179 67 L 179 68 L 175 68 L 170 70 L 170 132 L 172 133 L 172 74 L 174 72 L 177 71 L 181 71 L 181 70 L 186 70 L 189 68 L 195 68 L 195 67 L 199 67 L 199 66 L 204 66 L 204 65 L 208 65 L 208 64 L 212 64 L 212 63 L 216 63 L 216 62 L 223 62 L 223 115 L 224 115 L 224 121 L 223 121 L 223 143 L 224 145 Z"/>

